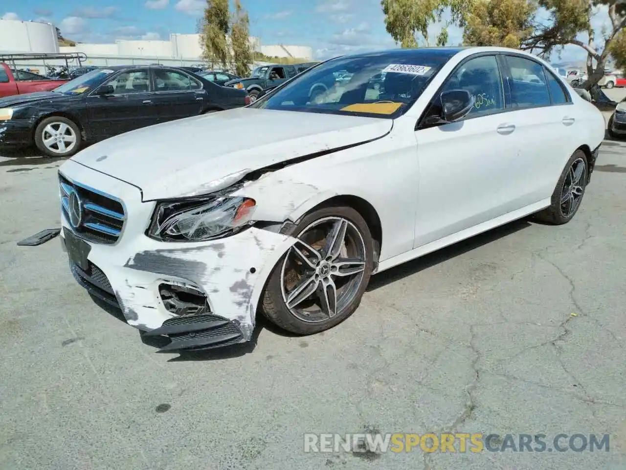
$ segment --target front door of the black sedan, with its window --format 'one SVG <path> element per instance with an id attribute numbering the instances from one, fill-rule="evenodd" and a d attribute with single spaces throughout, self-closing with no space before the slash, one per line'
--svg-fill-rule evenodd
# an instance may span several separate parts
<path id="1" fill-rule="evenodd" d="M 98 88 L 108 85 L 113 94 L 99 95 Z M 158 122 L 147 68 L 125 70 L 98 88 L 87 97 L 90 139 L 102 140 Z"/>

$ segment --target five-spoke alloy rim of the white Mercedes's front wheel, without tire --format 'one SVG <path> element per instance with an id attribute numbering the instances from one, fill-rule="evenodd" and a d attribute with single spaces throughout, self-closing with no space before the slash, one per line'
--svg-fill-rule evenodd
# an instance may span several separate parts
<path id="1" fill-rule="evenodd" d="M 296 237 L 280 269 L 285 306 L 295 318 L 321 323 L 346 310 L 364 278 L 361 232 L 343 217 L 324 217 Z"/>

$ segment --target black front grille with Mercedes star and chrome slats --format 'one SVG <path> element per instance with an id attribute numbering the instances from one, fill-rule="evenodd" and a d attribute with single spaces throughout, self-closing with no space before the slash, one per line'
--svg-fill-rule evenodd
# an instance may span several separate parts
<path id="1" fill-rule="evenodd" d="M 118 199 L 70 181 L 60 173 L 59 185 L 61 210 L 76 234 L 102 244 L 112 244 L 120 238 L 126 216 L 124 206 Z M 73 193 L 77 196 L 74 201 Z M 80 205 L 80 217 L 76 216 L 76 208 L 71 207 L 72 204 Z M 70 217 L 70 211 L 73 211 L 73 217 Z"/>

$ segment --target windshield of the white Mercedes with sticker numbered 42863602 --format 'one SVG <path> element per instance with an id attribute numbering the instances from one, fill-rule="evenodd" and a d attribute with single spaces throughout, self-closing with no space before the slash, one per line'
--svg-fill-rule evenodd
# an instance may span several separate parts
<path id="1" fill-rule="evenodd" d="M 452 55 L 393 51 L 337 58 L 306 71 L 251 107 L 397 117 Z"/>

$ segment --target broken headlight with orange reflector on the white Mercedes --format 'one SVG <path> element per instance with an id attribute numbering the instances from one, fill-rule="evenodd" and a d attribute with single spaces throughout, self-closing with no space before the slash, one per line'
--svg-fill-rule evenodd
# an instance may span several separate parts
<path id="1" fill-rule="evenodd" d="M 156 205 L 148 236 L 160 241 L 208 241 L 235 234 L 252 223 L 254 199 L 212 197 Z"/>

